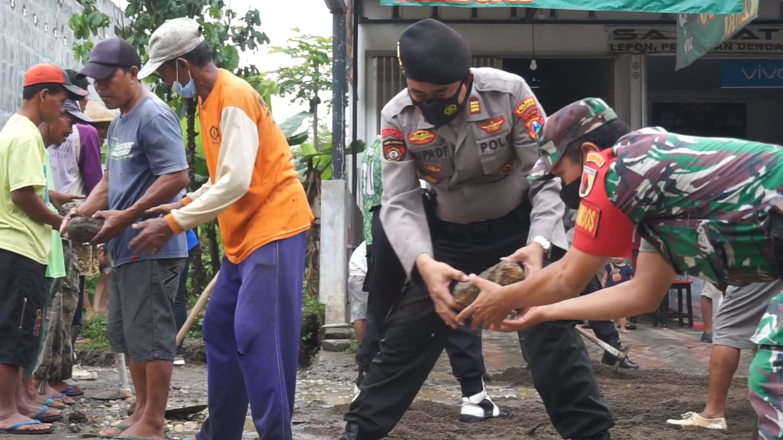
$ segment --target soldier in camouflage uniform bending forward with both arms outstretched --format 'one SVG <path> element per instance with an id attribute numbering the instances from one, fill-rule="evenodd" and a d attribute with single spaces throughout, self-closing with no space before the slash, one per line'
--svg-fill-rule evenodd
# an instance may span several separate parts
<path id="1" fill-rule="evenodd" d="M 529 178 L 561 178 L 565 203 L 579 207 L 572 247 L 511 286 L 471 277 L 482 294 L 458 321 L 473 316 L 474 324 L 511 331 L 554 319 L 615 319 L 655 309 L 678 274 L 730 285 L 781 278 L 780 146 L 662 128 L 630 132 L 595 98 L 552 115 L 538 141 L 541 157 Z M 567 299 L 605 258 L 630 253 L 634 232 L 643 240 L 633 280 Z M 505 319 L 508 310 L 529 307 Z M 759 351 L 749 388 L 765 439 L 783 438 L 781 314 L 777 294 L 752 337 Z"/>

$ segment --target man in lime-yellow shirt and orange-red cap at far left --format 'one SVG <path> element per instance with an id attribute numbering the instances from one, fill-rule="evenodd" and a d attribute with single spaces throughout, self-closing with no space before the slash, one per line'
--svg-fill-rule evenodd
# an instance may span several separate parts
<path id="1" fill-rule="evenodd" d="M 22 369 L 33 364 L 41 334 L 52 226 L 63 221 L 47 206 L 38 125 L 56 121 L 69 97 L 86 95 L 60 67 L 38 64 L 25 74 L 20 110 L 0 130 L 0 433 L 52 431 L 19 407 Z"/>

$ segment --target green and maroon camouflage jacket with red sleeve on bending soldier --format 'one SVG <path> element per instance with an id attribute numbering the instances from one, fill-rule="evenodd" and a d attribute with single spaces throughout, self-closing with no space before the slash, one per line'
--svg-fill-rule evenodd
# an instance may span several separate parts
<path id="1" fill-rule="evenodd" d="M 783 197 L 783 148 L 644 128 L 623 136 L 600 156 L 605 161 L 588 163 L 583 173 L 586 194 L 577 215 L 575 247 L 589 251 L 585 243 L 597 240 L 599 229 L 605 239 L 608 231 L 627 222 L 628 229 L 622 230 L 635 229 L 644 238 L 640 250 L 658 251 L 680 275 L 730 284 L 778 279 L 767 221 L 770 207 Z M 611 205 L 601 205 L 601 199 Z M 613 215 L 607 206 L 622 215 Z M 594 207 L 597 227 L 586 228 L 592 223 L 584 218 L 590 218 Z M 628 245 L 631 237 L 622 235 L 622 240 L 613 239 L 622 242 L 615 250 Z M 783 345 L 780 310 L 783 295 L 772 300 L 753 337 L 756 344 Z"/>

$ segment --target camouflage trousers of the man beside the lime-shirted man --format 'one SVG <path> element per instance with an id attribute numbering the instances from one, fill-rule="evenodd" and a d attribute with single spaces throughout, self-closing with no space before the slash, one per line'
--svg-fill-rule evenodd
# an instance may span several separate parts
<path id="1" fill-rule="evenodd" d="M 33 373 L 38 380 L 67 380 L 74 369 L 71 324 L 79 303 L 79 266 L 73 249 L 65 241 L 63 256 L 66 275 L 52 283 L 47 298 L 45 331 Z"/>

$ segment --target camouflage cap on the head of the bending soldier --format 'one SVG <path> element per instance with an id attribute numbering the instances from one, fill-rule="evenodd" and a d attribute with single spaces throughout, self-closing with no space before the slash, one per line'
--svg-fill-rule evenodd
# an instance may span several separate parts
<path id="1" fill-rule="evenodd" d="M 601 98 L 581 99 L 547 117 L 538 135 L 539 160 L 528 179 L 554 178 L 550 170 L 557 165 L 568 145 L 612 119 L 617 119 L 615 110 Z"/>

